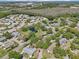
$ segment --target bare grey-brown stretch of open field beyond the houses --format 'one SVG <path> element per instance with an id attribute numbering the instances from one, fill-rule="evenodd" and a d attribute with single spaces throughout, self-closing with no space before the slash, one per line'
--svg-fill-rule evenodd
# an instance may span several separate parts
<path id="1" fill-rule="evenodd" d="M 42 16 L 57 16 L 66 13 L 79 13 L 79 8 L 64 8 L 64 7 L 56 7 L 56 8 L 44 8 L 44 9 L 17 9 L 19 13 L 27 13 L 27 14 L 37 14 Z"/>

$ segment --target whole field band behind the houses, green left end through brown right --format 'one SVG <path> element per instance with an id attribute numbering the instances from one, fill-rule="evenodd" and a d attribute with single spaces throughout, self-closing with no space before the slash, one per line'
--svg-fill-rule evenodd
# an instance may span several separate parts
<path id="1" fill-rule="evenodd" d="M 64 8 L 64 7 L 55 7 L 55 8 L 43 8 L 43 9 L 24 9 L 16 8 L 11 9 L 11 11 L 0 10 L 0 18 L 5 17 L 9 14 L 27 14 L 31 16 L 44 16 L 47 18 L 53 18 L 56 16 L 68 16 L 68 14 L 79 15 L 79 7 L 77 8 Z"/>

